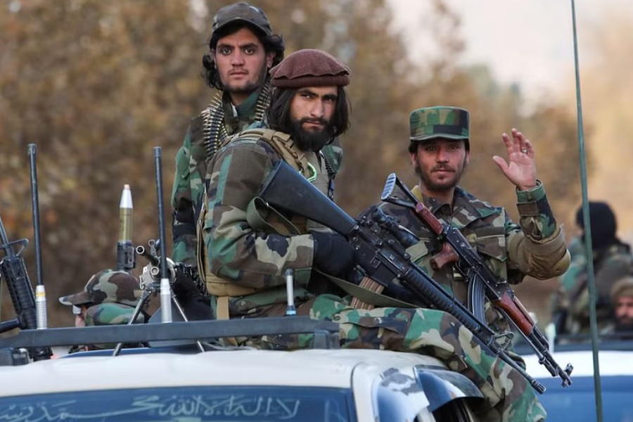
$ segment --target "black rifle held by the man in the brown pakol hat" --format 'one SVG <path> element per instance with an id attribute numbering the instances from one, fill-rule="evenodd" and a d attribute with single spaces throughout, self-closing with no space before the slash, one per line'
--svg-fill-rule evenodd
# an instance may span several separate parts
<path id="1" fill-rule="evenodd" d="M 354 246 L 358 267 L 373 281 L 385 286 L 385 291 L 389 291 L 393 280 L 398 279 L 421 302 L 452 314 L 473 333 L 482 349 L 516 369 L 537 392 L 545 391 L 544 385 L 506 354 L 504 347 L 495 340 L 497 336 L 484 322 L 411 262 L 399 236 L 394 233 L 395 225 L 381 210 L 375 210 L 357 222 L 281 160 L 264 181 L 259 196 L 279 212 L 302 215 L 345 236 Z"/>

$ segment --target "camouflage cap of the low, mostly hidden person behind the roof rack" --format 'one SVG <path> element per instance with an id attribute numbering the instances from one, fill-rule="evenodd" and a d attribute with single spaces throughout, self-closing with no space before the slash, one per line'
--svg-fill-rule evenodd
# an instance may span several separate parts
<path id="1" fill-rule="evenodd" d="M 139 281 L 125 271 L 104 269 L 94 274 L 79 293 L 63 296 L 59 301 L 63 305 L 98 305 L 114 302 L 136 306 L 141 296 Z"/>

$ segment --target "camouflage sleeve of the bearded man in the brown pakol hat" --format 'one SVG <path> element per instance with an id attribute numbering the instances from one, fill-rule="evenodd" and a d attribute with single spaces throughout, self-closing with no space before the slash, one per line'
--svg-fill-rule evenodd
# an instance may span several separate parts
<path id="1" fill-rule="evenodd" d="M 203 236 L 209 269 L 223 279 L 254 288 L 279 286 L 288 268 L 295 270 L 298 283 L 309 279 L 312 236 L 266 234 L 246 219 L 248 203 L 276 160 L 279 156 L 263 141 L 236 140 L 210 162 Z"/>

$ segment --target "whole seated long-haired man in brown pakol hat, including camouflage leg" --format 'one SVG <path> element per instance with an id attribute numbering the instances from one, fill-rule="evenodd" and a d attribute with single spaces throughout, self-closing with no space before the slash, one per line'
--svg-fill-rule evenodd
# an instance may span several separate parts
<path id="1" fill-rule="evenodd" d="M 530 384 L 451 315 L 435 309 L 350 307 L 347 298 L 314 296 L 307 283 L 319 270 L 345 278 L 354 266 L 352 246 L 323 226 L 262 208 L 257 191 L 276 162 L 286 161 L 321 192 L 327 178 L 319 151 L 348 127 L 344 87 L 350 70 L 319 50 L 300 50 L 271 69 L 274 91 L 267 128 L 249 129 L 219 150 L 207 168 L 207 200 L 200 216 L 198 268 L 213 295 L 217 318 L 279 316 L 286 310 L 283 273 L 295 274 L 300 315 L 340 324 L 342 347 L 431 354 L 478 385 L 485 421 L 543 421 L 545 411 Z M 239 345 L 292 349 L 309 335 L 238 338 Z"/>

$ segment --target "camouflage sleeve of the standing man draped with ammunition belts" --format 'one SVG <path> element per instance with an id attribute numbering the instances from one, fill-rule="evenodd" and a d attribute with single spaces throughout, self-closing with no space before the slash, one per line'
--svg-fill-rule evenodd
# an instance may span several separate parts
<path id="1" fill-rule="evenodd" d="M 196 266 L 196 221 L 191 197 L 189 162 L 191 160 L 191 127 L 176 155 L 176 172 L 172 188 L 172 260 Z"/>

